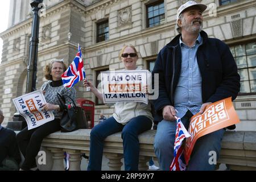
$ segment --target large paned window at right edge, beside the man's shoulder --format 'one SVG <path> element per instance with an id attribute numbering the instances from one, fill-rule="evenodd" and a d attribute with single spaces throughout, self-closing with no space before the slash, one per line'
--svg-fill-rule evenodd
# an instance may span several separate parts
<path id="1" fill-rule="evenodd" d="M 256 42 L 230 47 L 241 77 L 240 94 L 256 93 Z"/>

